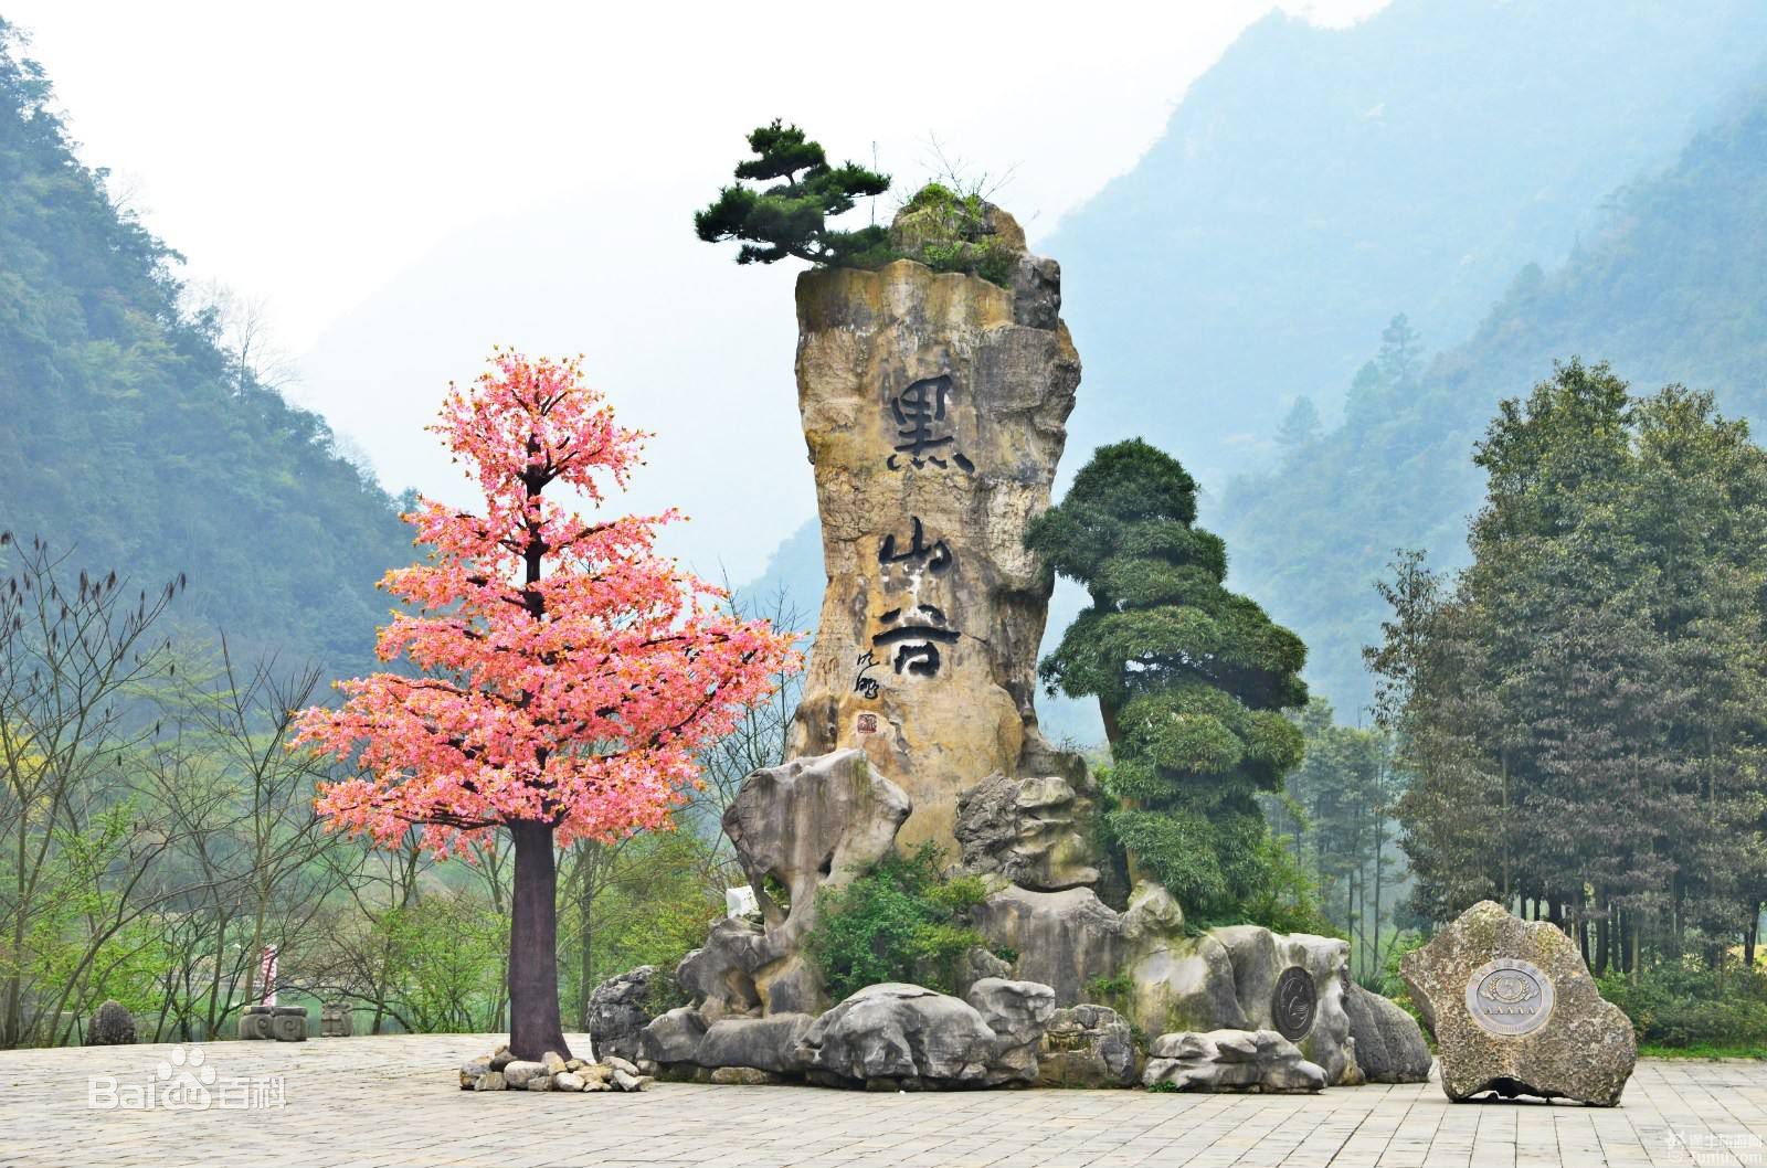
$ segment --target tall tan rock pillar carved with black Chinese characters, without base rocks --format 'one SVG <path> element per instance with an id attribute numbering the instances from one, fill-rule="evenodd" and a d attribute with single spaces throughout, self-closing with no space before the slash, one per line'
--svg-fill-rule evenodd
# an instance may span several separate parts
<path id="1" fill-rule="evenodd" d="M 903 843 L 951 855 L 977 777 L 1073 777 L 1048 769 L 1032 705 L 1050 580 L 1023 534 L 1050 504 L 1080 357 L 1060 269 L 988 214 L 1011 288 L 914 260 L 797 283 L 829 587 L 792 749 L 862 749 L 914 800 Z"/>

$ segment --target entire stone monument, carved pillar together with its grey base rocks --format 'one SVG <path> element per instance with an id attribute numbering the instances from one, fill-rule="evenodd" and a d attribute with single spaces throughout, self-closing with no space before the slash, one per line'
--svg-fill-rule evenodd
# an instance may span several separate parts
<path id="1" fill-rule="evenodd" d="M 899 216 L 898 247 L 935 258 L 928 228 Z M 1346 942 L 1194 933 L 1157 884 L 1101 899 L 1097 792 L 1037 730 L 1051 581 L 1023 544 L 1050 505 L 1080 357 L 1060 269 L 995 207 L 961 230 L 940 247 L 986 254 L 993 279 L 915 260 L 799 279 L 829 585 L 795 758 L 744 779 L 724 815 L 762 921 L 719 921 L 682 959 L 693 1005 L 650 1020 L 640 1055 L 707 1081 L 889 1088 L 1426 1076 L 1415 1023 L 1355 997 Z M 806 952 L 823 894 L 924 841 L 990 882 L 972 924 L 995 952 L 970 952 L 961 997 L 880 984 L 829 1000 Z"/>

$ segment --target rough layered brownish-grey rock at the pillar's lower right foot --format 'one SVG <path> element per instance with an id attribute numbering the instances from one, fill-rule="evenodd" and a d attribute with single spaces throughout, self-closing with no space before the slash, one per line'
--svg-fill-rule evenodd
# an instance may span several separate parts
<path id="1" fill-rule="evenodd" d="M 991 774 L 958 795 L 963 866 L 1043 892 L 1097 884 L 1092 802 L 1060 776 Z"/>

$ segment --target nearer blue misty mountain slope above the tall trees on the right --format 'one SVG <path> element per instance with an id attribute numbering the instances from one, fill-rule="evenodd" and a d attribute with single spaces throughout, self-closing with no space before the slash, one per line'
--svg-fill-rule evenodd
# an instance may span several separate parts
<path id="1" fill-rule="evenodd" d="M 1345 717 L 1369 694 L 1359 648 L 1385 615 L 1373 581 L 1396 548 L 1465 562 L 1484 488 L 1474 442 L 1497 401 L 1573 355 L 1610 360 L 1636 391 L 1709 389 L 1726 415 L 1767 424 L 1767 90 L 1620 193 L 1558 270 L 1523 269 L 1426 371 L 1391 353 L 1369 362 L 1339 428 L 1205 514 L 1228 539 L 1232 578 L 1301 633 L 1308 677 Z"/>

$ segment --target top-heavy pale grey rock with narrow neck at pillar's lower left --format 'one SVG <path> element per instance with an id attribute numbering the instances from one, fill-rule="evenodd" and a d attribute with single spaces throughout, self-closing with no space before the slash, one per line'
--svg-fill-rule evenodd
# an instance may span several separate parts
<path id="1" fill-rule="evenodd" d="M 908 797 L 861 751 L 795 758 L 742 779 L 724 811 L 724 834 L 762 906 L 760 928 L 719 921 L 677 977 L 709 1020 L 730 1014 L 816 1013 L 822 977 L 799 952 L 822 891 L 841 889 L 876 864 L 908 818 Z M 788 903 L 767 894 L 769 878 Z"/>

